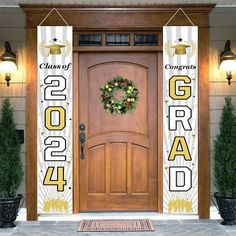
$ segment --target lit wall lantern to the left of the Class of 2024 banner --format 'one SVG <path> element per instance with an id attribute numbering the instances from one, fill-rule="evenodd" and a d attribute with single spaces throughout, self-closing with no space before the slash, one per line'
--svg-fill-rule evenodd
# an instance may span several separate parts
<path id="1" fill-rule="evenodd" d="M 8 41 L 5 42 L 5 52 L 0 57 L 0 70 L 5 73 L 7 86 L 10 85 L 11 73 L 17 70 L 16 54 L 11 51 L 11 45 Z"/>

